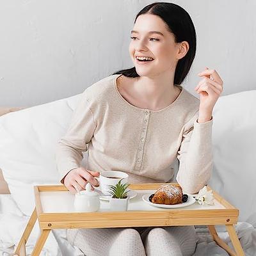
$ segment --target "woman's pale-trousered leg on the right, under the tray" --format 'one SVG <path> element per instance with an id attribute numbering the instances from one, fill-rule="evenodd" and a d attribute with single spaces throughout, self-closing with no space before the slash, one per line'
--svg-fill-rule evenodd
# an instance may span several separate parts
<path id="1" fill-rule="evenodd" d="M 147 256 L 191 256 L 197 242 L 194 226 L 154 227 L 143 239 Z"/>

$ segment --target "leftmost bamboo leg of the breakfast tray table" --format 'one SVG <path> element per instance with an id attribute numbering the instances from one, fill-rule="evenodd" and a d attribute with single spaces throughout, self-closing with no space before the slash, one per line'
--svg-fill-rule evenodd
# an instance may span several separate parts
<path id="1" fill-rule="evenodd" d="M 36 220 L 37 220 L 37 214 L 36 214 L 36 208 L 35 208 L 29 221 L 28 221 L 28 224 L 22 234 L 22 237 L 20 238 L 19 244 L 15 250 L 15 255 L 17 255 L 17 256 L 25 255 L 26 256 L 26 243 L 27 243 L 28 237 L 30 236 L 31 231 L 36 223 Z"/>

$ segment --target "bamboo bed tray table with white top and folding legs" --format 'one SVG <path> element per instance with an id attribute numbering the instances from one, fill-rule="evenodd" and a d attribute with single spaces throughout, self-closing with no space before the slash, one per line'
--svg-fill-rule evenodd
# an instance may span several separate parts
<path id="1" fill-rule="evenodd" d="M 76 212 L 74 195 L 65 186 L 35 186 L 35 210 L 22 234 L 15 255 L 26 255 L 26 241 L 38 219 L 41 234 L 31 253 L 32 256 L 40 255 L 51 229 L 185 225 L 207 225 L 212 239 L 229 255 L 244 256 L 234 228 L 239 215 L 238 209 L 209 186 L 207 189 L 212 190 L 214 205 L 204 206 L 195 202 L 186 207 L 166 209 L 154 207 L 142 200 L 143 195 L 154 193 L 161 184 L 166 183 L 130 184 L 129 189 L 135 190 L 138 194 L 129 200 L 128 210 L 122 212 L 111 211 L 109 202 L 105 200 L 100 200 L 100 209 L 97 212 Z M 235 251 L 220 239 L 214 225 L 226 226 Z"/>

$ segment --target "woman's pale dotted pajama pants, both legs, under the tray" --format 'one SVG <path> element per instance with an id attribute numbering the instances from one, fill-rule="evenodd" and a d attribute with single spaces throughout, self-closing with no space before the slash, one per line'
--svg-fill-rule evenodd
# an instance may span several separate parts
<path id="1" fill-rule="evenodd" d="M 86 256 L 191 256 L 198 242 L 194 226 L 72 228 L 67 239 Z"/>

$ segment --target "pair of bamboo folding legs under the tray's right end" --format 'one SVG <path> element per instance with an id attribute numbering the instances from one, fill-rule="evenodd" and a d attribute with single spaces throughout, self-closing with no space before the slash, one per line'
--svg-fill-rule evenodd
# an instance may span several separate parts
<path id="1" fill-rule="evenodd" d="M 228 226 L 228 227 L 227 227 Z M 232 250 L 228 244 L 226 244 L 221 238 L 218 236 L 218 233 L 216 232 L 216 228 L 214 225 L 208 225 L 209 231 L 212 235 L 212 239 L 221 247 L 223 248 L 230 256 L 244 256 L 243 248 L 239 242 L 239 239 L 236 235 L 236 230 L 234 229 L 233 225 L 226 225 L 226 228 L 228 231 L 228 234 L 230 236 L 230 239 L 232 241 L 232 244 L 236 250 Z"/>

